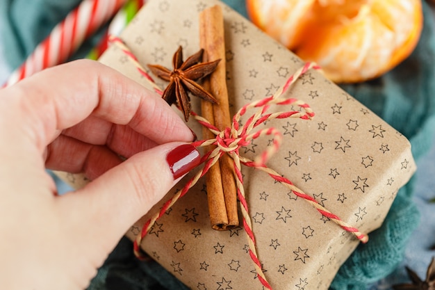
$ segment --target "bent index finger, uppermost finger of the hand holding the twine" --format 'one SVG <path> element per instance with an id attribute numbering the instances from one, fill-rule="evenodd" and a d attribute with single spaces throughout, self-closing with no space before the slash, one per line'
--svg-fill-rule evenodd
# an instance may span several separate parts
<path id="1" fill-rule="evenodd" d="M 106 65 L 81 60 L 44 70 L 4 89 L 21 98 L 25 121 L 43 148 L 58 131 L 93 114 L 126 124 L 156 143 L 191 141 L 192 132 L 160 96 Z"/>

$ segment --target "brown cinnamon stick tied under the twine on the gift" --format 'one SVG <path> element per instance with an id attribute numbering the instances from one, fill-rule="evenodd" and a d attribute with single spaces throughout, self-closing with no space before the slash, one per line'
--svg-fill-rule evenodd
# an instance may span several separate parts
<path id="1" fill-rule="evenodd" d="M 221 59 L 216 70 L 203 86 L 217 99 L 218 104 L 202 101 L 202 115 L 218 129 L 231 127 L 227 75 L 225 69 L 224 19 L 218 5 L 206 8 L 199 14 L 200 44 L 204 48 L 204 61 Z M 203 129 L 204 138 L 213 138 L 208 129 Z M 213 150 L 213 147 L 206 150 Z M 213 229 L 231 229 L 238 226 L 237 189 L 233 160 L 223 154 L 206 176 L 208 210 Z"/>

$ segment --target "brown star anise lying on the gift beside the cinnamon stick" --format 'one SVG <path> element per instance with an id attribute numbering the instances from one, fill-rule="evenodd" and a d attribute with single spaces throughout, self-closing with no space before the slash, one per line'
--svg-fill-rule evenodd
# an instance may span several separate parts
<path id="1" fill-rule="evenodd" d="M 195 82 L 211 74 L 220 62 L 220 59 L 218 59 L 217 61 L 201 63 L 203 54 L 204 49 L 200 49 L 196 54 L 193 54 L 183 62 L 183 48 L 180 46 L 172 58 L 172 66 L 174 67 L 172 72 L 162 65 L 147 65 L 153 74 L 156 74 L 156 76 L 165 81 L 169 81 L 169 84 L 163 91 L 162 97 L 167 104 L 172 105 L 177 103 L 179 105 L 184 113 L 186 122 L 189 120 L 190 115 L 190 97 L 188 92 L 213 104 L 217 103 L 213 95 Z"/>

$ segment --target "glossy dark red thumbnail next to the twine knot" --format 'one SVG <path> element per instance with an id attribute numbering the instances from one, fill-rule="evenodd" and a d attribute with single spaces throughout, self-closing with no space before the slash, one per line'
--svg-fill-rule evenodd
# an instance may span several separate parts
<path id="1" fill-rule="evenodd" d="M 174 179 L 177 179 L 196 166 L 199 165 L 201 158 L 198 150 L 190 144 L 175 147 L 166 156 L 166 162 L 169 165 Z"/>

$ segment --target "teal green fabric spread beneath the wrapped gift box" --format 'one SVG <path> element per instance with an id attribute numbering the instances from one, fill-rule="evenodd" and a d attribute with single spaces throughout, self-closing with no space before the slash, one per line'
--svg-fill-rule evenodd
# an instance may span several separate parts
<path id="1" fill-rule="evenodd" d="M 247 16 L 244 0 L 224 0 Z M 52 27 L 79 0 L 0 1 L 1 42 L 11 67 L 17 67 Z M 426 3 L 425 27 L 418 47 L 395 70 L 379 79 L 342 86 L 411 141 L 416 159 L 432 145 L 435 128 L 435 38 L 433 19 Z M 92 43 L 92 42 L 91 42 Z M 89 45 L 88 45 L 89 47 Z M 85 49 L 83 49 L 85 51 Z M 75 57 L 79 58 L 83 54 Z M 418 210 L 411 201 L 413 180 L 404 186 L 384 225 L 370 233 L 370 242 L 360 245 L 340 268 L 331 289 L 366 289 L 391 273 L 403 259 L 404 248 L 418 224 Z M 131 242 L 122 239 L 110 255 L 90 290 L 186 289 L 154 261 L 140 262 L 131 252 Z"/>

